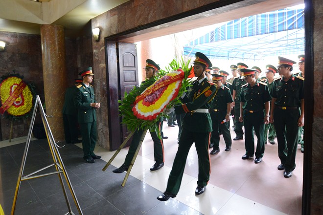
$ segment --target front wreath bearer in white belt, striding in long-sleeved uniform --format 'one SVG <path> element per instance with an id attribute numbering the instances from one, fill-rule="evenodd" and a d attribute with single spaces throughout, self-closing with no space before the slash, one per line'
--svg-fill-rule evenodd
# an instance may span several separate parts
<path id="1" fill-rule="evenodd" d="M 208 155 L 209 138 L 212 132 L 212 121 L 209 114 L 211 101 L 216 94 L 216 86 L 207 81 L 205 70 L 212 66 L 207 56 L 197 52 L 194 60 L 194 75 L 197 80 L 189 89 L 188 97 L 183 99 L 183 105 L 175 106 L 176 113 L 186 113 L 182 125 L 182 134 L 172 170 L 169 174 L 166 191 L 157 197 L 166 201 L 178 194 L 185 169 L 186 158 L 192 144 L 198 155 L 199 176 L 195 194 L 203 194 L 208 184 L 211 172 Z"/>

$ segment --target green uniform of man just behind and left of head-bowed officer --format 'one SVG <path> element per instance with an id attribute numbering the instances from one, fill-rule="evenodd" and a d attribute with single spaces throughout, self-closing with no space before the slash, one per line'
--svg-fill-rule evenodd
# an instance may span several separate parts
<path id="1" fill-rule="evenodd" d="M 235 90 L 235 98 L 234 99 L 234 113 L 235 113 L 235 125 L 234 132 L 237 137 L 243 137 L 242 126 L 243 123 L 239 122 L 240 117 L 240 94 L 242 85 L 246 84 L 245 80 L 241 80 L 240 78 L 235 78 L 232 83 L 232 90 Z"/>

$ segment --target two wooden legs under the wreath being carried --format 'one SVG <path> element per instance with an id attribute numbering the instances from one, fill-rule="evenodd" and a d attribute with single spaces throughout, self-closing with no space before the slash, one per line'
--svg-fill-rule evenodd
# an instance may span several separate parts
<path id="1" fill-rule="evenodd" d="M 145 136 L 146 136 L 146 133 L 147 133 L 147 130 L 148 129 L 144 129 L 141 136 L 140 136 L 140 141 L 139 141 L 139 144 L 138 144 L 138 147 L 137 147 L 137 150 L 134 154 L 134 157 L 132 158 L 131 160 L 131 163 L 129 165 L 129 168 L 127 170 L 127 173 L 126 175 L 124 176 L 124 179 L 123 179 L 123 182 L 121 184 L 122 187 L 124 187 L 126 185 L 126 182 L 128 180 L 128 177 L 129 177 L 129 174 L 131 172 L 131 169 L 132 167 L 134 166 L 134 163 L 136 161 L 136 158 L 137 158 L 137 155 L 138 155 L 138 152 L 141 148 L 141 144 L 143 142 L 143 140 L 145 139 Z M 134 135 L 134 133 L 137 131 L 137 129 L 135 131 L 132 131 L 129 136 L 123 141 L 123 143 L 120 145 L 119 149 L 117 151 L 115 151 L 115 154 L 111 157 L 111 159 L 109 160 L 109 162 L 104 166 L 104 168 L 102 169 L 102 171 L 104 172 L 108 167 L 109 165 L 112 163 L 112 161 L 115 159 L 116 155 L 123 149 L 123 147 L 126 145 L 126 143 L 128 142 L 128 140 Z"/>

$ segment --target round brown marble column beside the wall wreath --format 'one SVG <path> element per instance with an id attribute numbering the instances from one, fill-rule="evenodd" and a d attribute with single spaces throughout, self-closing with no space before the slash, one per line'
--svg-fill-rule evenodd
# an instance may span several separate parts
<path id="1" fill-rule="evenodd" d="M 55 141 L 62 141 L 64 140 L 62 108 L 67 88 L 64 27 L 42 25 L 41 42 L 46 114 L 53 116 L 47 120 Z"/>

